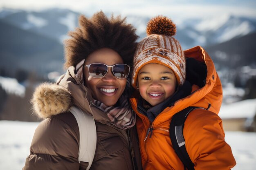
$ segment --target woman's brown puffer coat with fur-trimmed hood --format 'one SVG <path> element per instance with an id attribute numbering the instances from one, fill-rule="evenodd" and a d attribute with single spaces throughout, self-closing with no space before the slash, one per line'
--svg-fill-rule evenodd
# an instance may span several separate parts
<path id="1" fill-rule="evenodd" d="M 121 130 L 110 124 L 107 115 L 92 105 L 93 99 L 88 88 L 79 82 L 79 78 L 74 75 L 74 67 L 70 67 L 57 85 L 43 84 L 36 89 L 34 110 L 40 117 L 47 118 L 35 131 L 23 170 L 87 168 L 87 162 L 80 162 L 79 166 L 79 128 L 75 117 L 68 111 L 71 105 L 92 114 L 96 123 L 97 148 L 90 170 L 133 170 L 137 167 L 141 170 L 135 127 Z M 133 161 L 135 158 L 132 158 L 135 155 L 137 166 Z"/>

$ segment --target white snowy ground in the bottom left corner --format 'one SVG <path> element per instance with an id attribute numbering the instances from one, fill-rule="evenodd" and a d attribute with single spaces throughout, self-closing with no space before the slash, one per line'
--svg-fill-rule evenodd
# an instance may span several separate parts
<path id="1" fill-rule="evenodd" d="M 0 121 L 0 170 L 21 170 L 38 122 Z"/>

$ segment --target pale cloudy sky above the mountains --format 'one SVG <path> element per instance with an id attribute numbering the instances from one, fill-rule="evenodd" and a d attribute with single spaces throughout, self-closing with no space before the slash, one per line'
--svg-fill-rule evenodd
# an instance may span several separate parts
<path id="1" fill-rule="evenodd" d="M 80 13 L 96 11 L 122 15 L 172 15 L 204 17 L 212 15 L 243 15 L 256 18 L 256 0 L 0 0 L 0 8 L 43 10 L 67 8 Z"/>

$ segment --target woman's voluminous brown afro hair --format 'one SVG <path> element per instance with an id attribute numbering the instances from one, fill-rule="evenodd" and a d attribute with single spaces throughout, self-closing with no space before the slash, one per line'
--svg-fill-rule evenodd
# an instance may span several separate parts
<path id="1" fill-rule="evenodd" d="M 70 31 L 70 39 L 65 41 L 65 67 L 75 66 L 86 59 L 90 53 L 101 48 L 116 51 L 131 66 L 137 47 L 136 29 L 126 23 L 126 18 L 112 15 L 110 19 L 99 11 L 92 18 L 84 15 L 79 18 L 79 27 Z"/>

